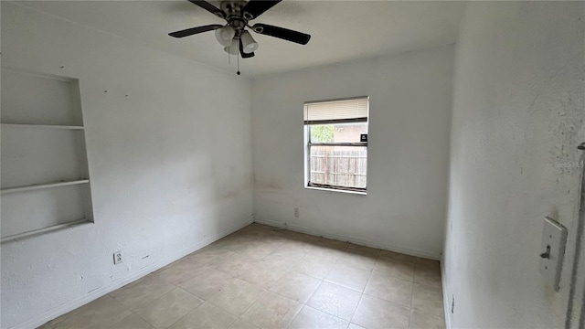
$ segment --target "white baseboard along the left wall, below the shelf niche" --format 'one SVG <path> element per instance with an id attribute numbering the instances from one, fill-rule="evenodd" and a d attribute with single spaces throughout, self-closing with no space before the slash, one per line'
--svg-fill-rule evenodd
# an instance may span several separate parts
<path id="1" fill-rule="evenodd" d="M 155 262 L 147 267 L 144 267 L 143 269 L 140 269 L 139 271 L 132 273 L 128 277 L 125 277 L 125 278 L 120 279 L 118 281 L 113 281 L 112 283 L 108 284 L 107 286 L 103 286 L 103 287 L 98 288 L 97 290 L 95 290 L 93 292 L 89 292 L 89 293 L 81 296 L 80 298 L 66 302 L 66 303 L 58 306 L 57 308 L 54 308 L 46 313 L 42 313 L 41 315 L 38 315 L 37 317 L 34 317 L 34 318 L 24 322 L 24 323 L 16 324 L 16 326 L 13 326 L 11 329 L 37 328 L 39 325 L 46 324 L 48 321 L 53 320 L 60 315 L 63 315 L 65 313 L 69 313 L 69 312 L 79 308 L 80 306 L 85 305 L 88 302 L 92 302 L 92 301 L 100 298 L 101 296 L 106 295 L 107 293 L 110 293 L 110 292 L 115 291 L 116 289 L 122 288 L 122 286 L 124 286 L 128 283 L 136 281 L 136 280 L 144 277 L 147 274 L 150 274 L 150 273 L 152 273 L 160 268 L 163 268 L 166 265 L 172 263 L 173 261 L 176 261 L 176 260 L 179 260 L 179 259 L 185 257 L 186 255 L 190 254 L 191 252 L 194 252 L 194 251 L 197 251 L 198 249 L 206 247 L 207 245 L 217 241 L 218 239 L 229 236 L 229 234 L 231 234 L 231 233 L 233 233 L 241 228 L 245 228 L 248 225 L 250 225 L 251 223 L 252 223 L 252 220 L 246 222 L 243 225 L 239 225 L 239 226 L 236 226 L 233 228 L 228 228 L 228 229 L 220 232 L 219 234 L 217 234 L 213 237 L 210 237 L 208 239 L 205 239 L 205 240 L 197 243 L 196 245 L 194 245 L 191 248 L 183 249 L 183 250 L 177 252 L 172 257 L 169 257 L 165 260 L 157 261 L 157 262 Z"/>

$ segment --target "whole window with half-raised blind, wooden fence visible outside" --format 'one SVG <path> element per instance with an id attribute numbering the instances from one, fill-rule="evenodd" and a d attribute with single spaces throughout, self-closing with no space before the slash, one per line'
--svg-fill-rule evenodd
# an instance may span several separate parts
<path id="1" fill-rule="evenodd" d="M 368 97 L 304 103 L 307 186 L 366 192 Z"/>

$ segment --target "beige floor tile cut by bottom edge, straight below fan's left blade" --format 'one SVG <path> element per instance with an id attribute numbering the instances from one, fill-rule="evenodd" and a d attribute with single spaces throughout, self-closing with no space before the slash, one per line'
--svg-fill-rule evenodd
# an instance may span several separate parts
<path id="1" fill-rule="evenodd" d="M 204 302 L 184 318 L 173 324 L 172 329 L 221 329 L 228 328 L 238 318 L 226 311 Z"/>

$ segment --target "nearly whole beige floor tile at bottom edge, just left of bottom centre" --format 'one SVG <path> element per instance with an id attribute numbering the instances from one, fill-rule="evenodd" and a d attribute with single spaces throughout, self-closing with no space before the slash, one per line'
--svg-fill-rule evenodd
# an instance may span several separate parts
<path id="1" fill-rule="evenodd" d="M 262 329 L 286 328 L 301 307 L 303 304 L 292 299 L 274 292 L 265 292 L 242 318 Z"/>

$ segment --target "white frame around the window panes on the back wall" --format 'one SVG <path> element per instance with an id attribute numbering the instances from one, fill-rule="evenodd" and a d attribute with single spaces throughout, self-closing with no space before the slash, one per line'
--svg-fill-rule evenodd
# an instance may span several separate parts
<path id="1" fill-rule="evenodd" d="M 303 103 L 303 112 L 308 104 L 312 103 L 324 103 L 333 101 L 367 101 L 367 117 L 355 118 L 355 119 L 332 119 L 332 120 L 321 120 L 319 124 L 340 124 L 340 123 L 367 123 L 367 132 L 369 134 L 369 96 L 358 96 L 349 97 L 334 100 L 323 100 L 323 101 L 305 101 Z M 304 115 L 304 114 L 303 114 Z M 303 117 L 303 130 L 304 130 L 304 158 L 305 158 L 305 170 L 304 170 L 304 187 L 311 189 L 319 189 L 333 192 L 346 192 L 353 194 L 366 195 L 367 194 L 367 174 L 366 174 L 366 186 L 365 187 L 350 187 L 350 186 L 335 186 L 329 184 L 320 184 L 311 182 L 311 147 L 312 146 L 350 146 L 350 147 L 366 147 L 367 142 L 356 142 L 356 143 L 312 143 L 311 142 L 311 126 L 315 123 L 304 120 Z M 368 158 L 369 156 L 367 156 Z M 367 166 L 367 164 L 366 164 Z M 367 173 L 367 168 L 366 168 Z"/>

